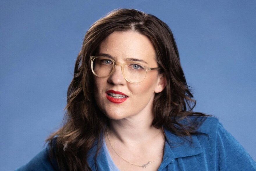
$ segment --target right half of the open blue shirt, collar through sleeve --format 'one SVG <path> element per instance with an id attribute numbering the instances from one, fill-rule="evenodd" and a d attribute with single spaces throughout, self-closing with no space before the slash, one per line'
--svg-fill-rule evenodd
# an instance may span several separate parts
<path id="1" fill-rule="evenodd" d="M 168 152 L 175 165 L 186 170 L 256 170 L 256 163 L 215 117 L 189 117 L 198 123 L 196 134 L 180 137 L 165 130 Z M 169 149 L 170 148 L 170 149 Z M 168 151 L 169 149 L 169 151 Z M 167 154 L 167 153 L 166 153 Z"/>

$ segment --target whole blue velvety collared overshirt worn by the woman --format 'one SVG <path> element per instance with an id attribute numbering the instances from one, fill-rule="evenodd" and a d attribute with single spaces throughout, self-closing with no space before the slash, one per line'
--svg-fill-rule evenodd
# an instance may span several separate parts
<path id="1" fill-rule="evenodd" d="M 206 135 L 192 135 L 192 144 L 168 130 L 165 130 L 166 143 L 163 161 L 159 171 L 255 171 L 256 162 L 244 150 L 232 135 L 227 132 L 218 119 L 207 117 L 198 129 Z M 90 149 L 87 161 L 94 170 L 109 171 L 104 149 L 100 149 L 95 160 L 97 142 Z M 59 170 L 56 159 L 49 158 L 49 149 L 45 148 L 29 163 L 17 169 Z"/>

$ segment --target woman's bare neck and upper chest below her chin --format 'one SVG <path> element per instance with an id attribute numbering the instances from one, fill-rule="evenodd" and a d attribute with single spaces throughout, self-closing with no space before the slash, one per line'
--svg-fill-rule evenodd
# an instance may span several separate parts
<path id="1" fill-rule="evenodd" d="M 105 141 L 111 156 L 121 168 L 135 170 L 138 166 L 146 168 L 150 163 L 153 170 L 159 168 L 165 139 L 163 130 L 153 127 L 152 121 L 153 115 L 146 117 L 144 114 L 120 120 L 110 119 Z"/>

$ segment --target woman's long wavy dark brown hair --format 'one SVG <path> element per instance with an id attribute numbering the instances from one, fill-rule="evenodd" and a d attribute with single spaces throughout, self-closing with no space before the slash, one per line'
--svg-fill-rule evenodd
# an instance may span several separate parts
<path id="1" fill-rule="evenodd" d="M 96 21 L 86 32 L 67 91 L 63 126 L 47 139 L 61 170 L 90 170 L 86 161 L 88 150 L 95 141 L 99 142 L 108 119 L 94 99 L 89 57 L 97 53 L 99 44 L 111 33 L 127 30 L 150 39 L 157 54 L 156 61 L 166 76 L 166 88 L 154 97 L 153 126 L 165 128 L 182 137 L 191 136 L 196 133 L 201 121 L 179 121 L 189 119 L 191 115 L 205 116 L 192 112 L 195 100 L 186 83 L 173 34 L 166 23 L 138 10 L 114 10 Z"/>

